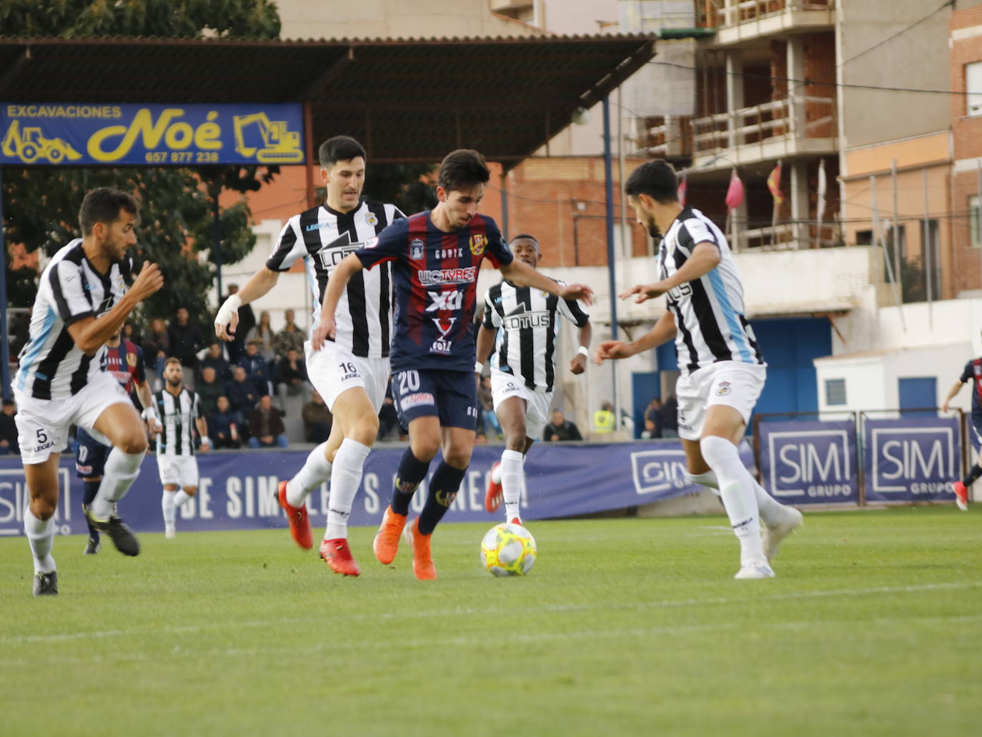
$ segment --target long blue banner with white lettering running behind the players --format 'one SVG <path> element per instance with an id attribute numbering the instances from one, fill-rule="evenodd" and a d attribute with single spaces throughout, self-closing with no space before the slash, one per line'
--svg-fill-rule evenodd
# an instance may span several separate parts
<path id="1" fill-rule="evenodd" d="M 365 464 L 350 524 L 379 523 L 392 493 L 402 447 L 379 447 Z M 178 531 L 241 530 L 284 527 L 286 520 L 275 500 L 277 484 L 291 478 L 303 464 L 306 451 L 257 450 L 210 452 L 197 456 L 200 481 L 197 496 L 179 512 Z M 491 464 L 500 447 L 477 446 L 461 491 L 447 513 L 448 522 L 496 522 L 502 514 L 484 510 L 484 490 Z M 740 457 L 752 463 L 743 444 Z M 678 442 L 611 445 L 536 445 L 525 465 L 527 499 L 521 501 L 528 520 L 590 514 L 695 493 L 685 477 L 685 455 Z M 437 461 L 430 464 L 431 473 Z M 56 519 L 64 534 L 82 534 L 82 482 L 74 459 L 63 455 L 59 468 L 62 500 Z M 137 532 L 160 532 L 161 487 L 153 455 L 143 461 L 136 483 L 120 503 L 120 513 Z M 425 500 L 425 482 L 412 500 L 418 512 Z M 307 500 L 314 527 L 327 522 L 327 485 Z M 16 456 L 0 458 L 0 535 L 23 534 L 27 495 L 24 469 Z M 722 508 L 721 508 L 722 510 Z"/>

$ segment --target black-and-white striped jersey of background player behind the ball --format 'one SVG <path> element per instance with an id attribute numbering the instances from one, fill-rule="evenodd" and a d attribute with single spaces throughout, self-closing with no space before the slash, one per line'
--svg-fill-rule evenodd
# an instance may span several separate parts
<path id="1" fill-rule="evenodd" d="M 556 380 L 559 315 L 571 320 L 577 328 L 590 319 L 575 299 L 516 287 L 508 280 L 496 284 L 484 298 L 484 327 L 500 328 L 491 366 L 520 378 L 531 390 L 552 392 Z"/>

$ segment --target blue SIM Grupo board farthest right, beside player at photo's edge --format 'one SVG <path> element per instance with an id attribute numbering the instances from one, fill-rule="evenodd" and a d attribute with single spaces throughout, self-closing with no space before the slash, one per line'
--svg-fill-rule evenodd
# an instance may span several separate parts
<path id="1" fill-rule="evenodd" d="M 961 476 L 955 417 L 904 417 L 863 423 L 867 501 L 951 501 Z"/>

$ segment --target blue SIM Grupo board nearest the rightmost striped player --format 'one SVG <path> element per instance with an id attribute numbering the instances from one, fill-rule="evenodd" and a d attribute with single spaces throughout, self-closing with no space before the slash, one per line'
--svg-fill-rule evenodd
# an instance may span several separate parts
<path id="1" fill-rule="evenodd" d="M 856 430 L 851 421 L 761 422 L 760 473 L 776 500 L 859 501 Z"/>

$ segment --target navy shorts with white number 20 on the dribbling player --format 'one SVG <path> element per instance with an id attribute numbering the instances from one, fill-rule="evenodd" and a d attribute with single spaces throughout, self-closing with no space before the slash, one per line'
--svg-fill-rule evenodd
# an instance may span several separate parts
<path id="1" fill-rule="evenodd" d="M 439 417 L 441 427 L 477 426 L 477 383 L 470 371 L 400 371 L 392 375 L 392 396 L 405 428 L 416 417 Z"/>

